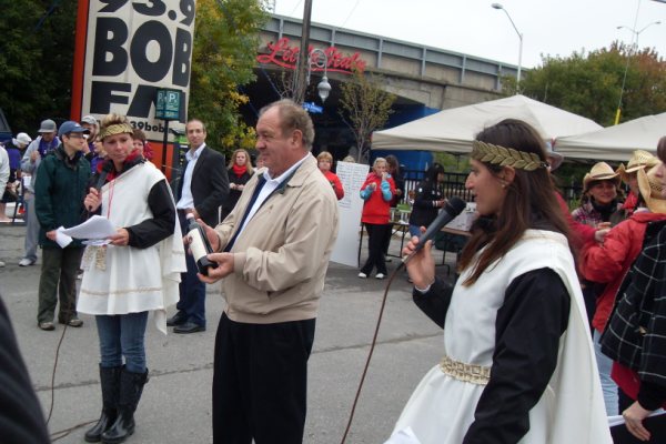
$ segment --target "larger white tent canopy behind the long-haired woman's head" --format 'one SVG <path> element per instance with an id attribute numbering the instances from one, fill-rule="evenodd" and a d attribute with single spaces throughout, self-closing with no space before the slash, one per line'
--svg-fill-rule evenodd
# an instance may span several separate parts
<path id="1" fill-rule="evenodd" d="M 544 140 L 602 129 L 589 119 L 524 95 L 514 95 L 452 108 L 400 127 L 375 131 L 372 149 L 468 153 L 480 131 L 509 118 L 529 123 Z"/>

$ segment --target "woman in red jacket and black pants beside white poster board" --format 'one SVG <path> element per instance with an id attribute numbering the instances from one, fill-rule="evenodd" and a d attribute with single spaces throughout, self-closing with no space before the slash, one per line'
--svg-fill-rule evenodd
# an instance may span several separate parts
<path id="1" fill-rule="evenodd" d="M 391 200 L 395 194 L 395 182 L 391 174 L 386 172 L 386 159 L 376 158 L 371 172 L 361 186 L 361 199 L 363 213 L 361 222 L 365 224 L 367 231 L 367 261 L 361 268 L 359 278 L 365 279 L 376 266 L 376 279 L 384 279 L 386 275 L 386 261 L 384 259 L 384 240 L 386 230 L 391 230 L 389 221 L 391 220 Z"/>

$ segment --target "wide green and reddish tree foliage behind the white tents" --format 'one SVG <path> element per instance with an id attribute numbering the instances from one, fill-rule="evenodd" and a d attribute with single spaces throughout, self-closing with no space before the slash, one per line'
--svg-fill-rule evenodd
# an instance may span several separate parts
<path id="1" fill-rule="evenodd" d="M 542 102 L 610 125 L 622 94 L 622 121 L 666 109 L 666 61 L 654 49 L 634 51 L 614 42 L 585 56 L 544 57 L 543 65 L 526 72 L 519 91 Z M 628 63 L 627 63 L 628 62 Z M 515 79 L 503 79 L 504 91 L 515 93 Z"/>

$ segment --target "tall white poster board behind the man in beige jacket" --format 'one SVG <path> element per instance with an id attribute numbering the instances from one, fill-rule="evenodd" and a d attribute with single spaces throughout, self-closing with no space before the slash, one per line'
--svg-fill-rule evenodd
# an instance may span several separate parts
<path id="1" fill-rule="evenodd" d="M 370 172 L 370 165 L 350 162 L 337 162 L 335 173 L 344 188 L 344 198 L 337 201 L 340 211 L 340 229 L 337 241 L 331 254 L 331 261 L 349 266 L 359 266 L 359 239 L 363 199 L 361 186 Z"/>

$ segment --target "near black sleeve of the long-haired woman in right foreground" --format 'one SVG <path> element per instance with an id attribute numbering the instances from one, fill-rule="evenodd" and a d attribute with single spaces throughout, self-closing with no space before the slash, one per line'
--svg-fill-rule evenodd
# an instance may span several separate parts
<path id="1" fill-rule="evenodd" d="M 516 278 L 497 311 L 495 353 L 465 444 L 517 443 L 529 431 L 528 413 L 557 365 L 571 296 L 559 276 L 539 269 Z"/>

